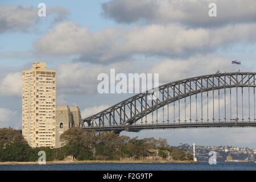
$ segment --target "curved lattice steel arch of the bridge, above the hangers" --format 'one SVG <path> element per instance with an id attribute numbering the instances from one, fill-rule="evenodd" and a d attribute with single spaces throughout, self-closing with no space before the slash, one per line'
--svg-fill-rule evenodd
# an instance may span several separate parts
<path id="1" fill-rule="evenodd" d="M 105 121 L 110 127 L 132 125 L 160 107 L 195 94 L 217 89 L 255 87 L 255 75 L 256 73 L 250 72 L 216 73 L 170 82 L 159 86 L 162 97 L 156 100 L 147 100 L 152 95 L 151 92 L 139 93 L 82 121 L 87 122 L 90 127 L 105 126 Z"/>

